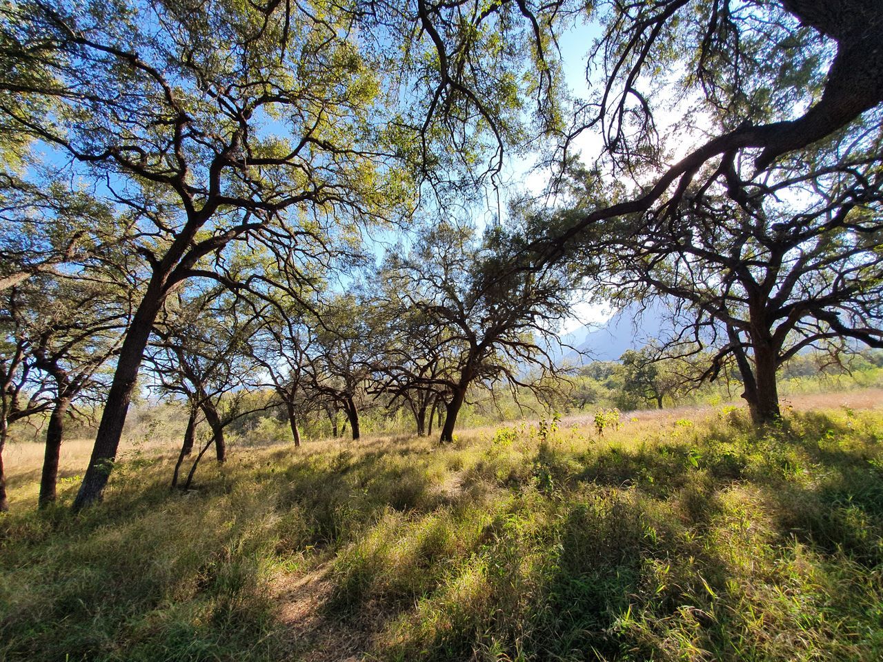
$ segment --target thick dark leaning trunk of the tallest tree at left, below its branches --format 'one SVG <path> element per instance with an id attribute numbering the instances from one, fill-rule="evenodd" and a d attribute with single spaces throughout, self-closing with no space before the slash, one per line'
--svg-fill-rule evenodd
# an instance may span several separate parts
<path id="1" fill-rule="evenodd" d="M 154 279 L 157 280 L 156 278 Z M 77 498 L 73 501 L 73 510 L 82 508 L 101 500 L 104 486 L 107 485 L 110 469 L 117 457 L 119 440 L 123 434 L 125 415 L 132 400 L 132 390 L 138 379 L 138 369 L 144 357 L 150 330 L 162 305 L 163 295 L 160 285 L 151 282 L 147 293 L 132 318 L 132 325 L 125 334 L 123 346 L 117 359 L 117 371 L 114 372 L 107 400 L 104 402 L 104 413 L 98 433 L 95 436 L 92 456 L 83 482 L 79 485 Z"/>

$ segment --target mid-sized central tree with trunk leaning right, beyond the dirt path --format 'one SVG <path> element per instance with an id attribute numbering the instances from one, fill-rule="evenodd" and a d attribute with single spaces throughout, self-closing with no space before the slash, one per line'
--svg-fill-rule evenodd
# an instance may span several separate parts
<path id="1" fill-rule="evenodd" d="M 434 373 L 420 373 L 404 362 L 389 369 L 400 384 L 440 394 L 446 413 L 442 442 L 453 440 L 457 414 L 473 383 L 532 387 L 528 365 L 555 369 L 541 338 L 554 335 L 555 324 L 569 310 L 569 274 L 556 268 L 539 274 L 513 269 L 519 251 L 517 240 L 500 226 L 476 237 L 470 227 L 444 221 L 423 229 L 410 254 L 387 258 L 381 279 L 395 284 L 402 314 L 419 312 L 426 330 L 417 327 L 417 333 L 435 339 L 435 351 L 445 357 Z M 404 339 L 399 342 L 408 346 Z"/>

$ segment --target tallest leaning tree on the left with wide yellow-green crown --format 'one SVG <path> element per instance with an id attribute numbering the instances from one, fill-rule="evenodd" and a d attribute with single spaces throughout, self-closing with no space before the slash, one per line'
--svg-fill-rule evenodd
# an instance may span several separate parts
<path id="1" fill-rule="evenodd" d="M 212 274 L 211 258 L 230 242 L 251 237 L 308 254 L 335 217 L 370 222 L 401 199 L 402 171 L 381 169 L 395 155 L 375 124 L 387 102 L 386 63 L 364 34 L 364 48 L 351 36 L 355 10 L 4 7 L 14 46 L 4 55 L 52 74 L 19 81 L 19 94 L 60 109 L 40 116 L 5 106 L 3 121 L 81 164 L 79 175 L 138 214 L 145 237 L 138 251 L 149 280 L 75 508 L 102 493 L 102 467 L 116 455 L 151 327 L 172 290 Z"/>

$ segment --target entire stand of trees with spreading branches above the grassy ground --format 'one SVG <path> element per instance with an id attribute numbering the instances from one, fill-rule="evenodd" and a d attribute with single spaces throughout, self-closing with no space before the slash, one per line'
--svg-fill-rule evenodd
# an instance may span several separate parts
<path id="1" fill-rule="evenodd" d="M 310 393 L 358 434 L 370 372 L 450 440 L 471 385 L 540 387 L 575 290 L 675 302 L 669 349 L 774 420 L 789 358 L 883 346 L 883 4 L 836 5 L 4 5 L 0 457 L 51 411 L 49 502 L 65 412 L 100 403 L 86 507 L 139 379 L 220 460 L 254 380 L 295 438 Z M 504 181 L 530 155 L 533 198 Z M 511 202 L 476 229 L 483 192 Z M 380 265 L 372 233 L 404 237 Z"/>

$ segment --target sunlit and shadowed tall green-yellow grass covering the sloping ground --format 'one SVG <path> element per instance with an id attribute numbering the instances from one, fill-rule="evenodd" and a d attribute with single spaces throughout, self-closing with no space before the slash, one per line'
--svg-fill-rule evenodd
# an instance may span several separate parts
<path id="1" fill-rule="evenodd" d="M 883 412 L 800 409 L 147 448 L 78 517 L 21 463 L 0 659 L 877 660 Z"/>

